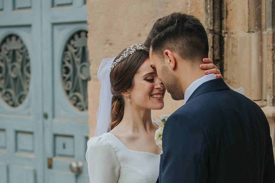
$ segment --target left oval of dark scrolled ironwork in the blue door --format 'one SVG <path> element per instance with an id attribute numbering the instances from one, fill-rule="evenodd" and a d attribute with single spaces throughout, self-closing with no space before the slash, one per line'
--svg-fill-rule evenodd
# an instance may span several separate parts
<path id="1" fill-rule="evenodd" d="M 17 35 L 8 35 L 0 44 L 0 96 L 11 107 L 25 100 L 30 85 L 30 57 Z"/>

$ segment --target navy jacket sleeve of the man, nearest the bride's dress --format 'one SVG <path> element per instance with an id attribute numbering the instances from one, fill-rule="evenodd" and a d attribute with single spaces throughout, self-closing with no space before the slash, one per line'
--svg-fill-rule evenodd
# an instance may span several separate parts
<path id="1" fill-rule="evenodd" d="M 172 114 L 162 135 L 161 183 L 207 182 L 209 146 L 205 133 L 192 116 Z"/>

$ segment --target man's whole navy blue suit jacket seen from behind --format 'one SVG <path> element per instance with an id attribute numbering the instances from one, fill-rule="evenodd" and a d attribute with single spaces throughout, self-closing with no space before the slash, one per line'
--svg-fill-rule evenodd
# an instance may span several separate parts
<path id="1" fill-rule="evenodd" d="M 223 79 L 200 85 L 167 120 L 159 183 L 274 183 L 269 124 Z"/>

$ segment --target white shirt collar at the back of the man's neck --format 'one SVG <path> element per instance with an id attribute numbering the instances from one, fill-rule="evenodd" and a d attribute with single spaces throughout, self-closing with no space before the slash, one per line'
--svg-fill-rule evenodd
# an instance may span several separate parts
<path id="1" fill-rule="evenodd" d="M 197 89 L 197 87 L 199 87 L 201 84 L 205 83 L 206 81 L 210 81 L 212 79 L 216 79 L 215 74 L 205 75 L 195 80 L 193 83 L 191 83 L 184 93 L 184 104 L 187 102 L 187 100 L 192 95 L 192 93 Z"/>

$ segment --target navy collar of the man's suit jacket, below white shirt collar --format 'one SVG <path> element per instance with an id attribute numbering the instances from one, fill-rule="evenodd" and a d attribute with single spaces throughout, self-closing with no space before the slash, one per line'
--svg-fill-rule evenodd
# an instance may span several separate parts
<path id="1" fill-rule="evenodd" d="M 229 87 L 227 86 L 227 84 L 225 84 L 223 79 L 219 78 L 219 79 L 212 79 L 210 81 L 206 81 L 205 83 L 197 87 L 197 89 L 192 93 L 192 95 L 188 98 L 185 104 L 201 94 L 213 92 L 221 89 L 229 89 Z"/>

